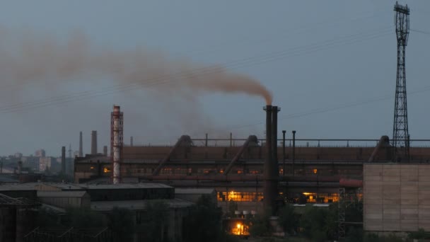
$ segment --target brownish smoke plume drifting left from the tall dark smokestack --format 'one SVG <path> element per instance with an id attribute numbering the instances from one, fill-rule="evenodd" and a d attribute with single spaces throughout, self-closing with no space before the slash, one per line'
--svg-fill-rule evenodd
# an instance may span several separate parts
<path id="1" fill-rule="evenodd" d="M 0 32 L 10 35 L 4 28 Z M 19 90 L 23 84 L 37 81 L 110 76 L 121 84 L 139 83 L 159 90 L 245 93 L 272 103 L 271 93 L 255 79 L 231 74 L 219 67 L 184 63 L 143 49 L 121 51 L 92 47 L 82 33 L 73 33 L 65 45 L 29 31 L 0 42 L 1 82 L 6 83 L 1 88 Z"/>

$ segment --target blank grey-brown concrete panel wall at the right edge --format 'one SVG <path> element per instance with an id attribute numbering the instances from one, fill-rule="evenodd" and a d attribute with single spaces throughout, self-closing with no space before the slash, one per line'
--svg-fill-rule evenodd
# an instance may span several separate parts
<path id="1" fill-rule="evenodd" d="M 364 229 L 430 230 L 430 164 L 365 164 Z"/>

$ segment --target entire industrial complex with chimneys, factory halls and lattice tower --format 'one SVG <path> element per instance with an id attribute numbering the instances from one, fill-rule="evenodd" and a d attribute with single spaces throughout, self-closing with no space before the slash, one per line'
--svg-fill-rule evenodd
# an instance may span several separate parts
<path id="1" fill-rule="evenodd" d="M 352 224 L 345 219 L 345 209 L 363 202 L 363 220 L 358 224 L 366 232 L 430 231 L 430 147 L 422 145 L 430 139 L 410 137 L 407 123 L 409 8 L 396 3 L 394 10 L 397 80 L 392 136 L 301 139 L 299 132 L 279 127 L 281 107 L 267 103 L 255 108 L 265 120 L 265 137 L 183 134 L 172 146 L 136 146 L 133 137 L 125 144 L 127 113 L 113 105 L 110 146 L 104 146 L 103 152 L 98 152 L 98 134 L 93 130 L 91 154 L 83 154 L 80 132 L 79 152 L 73 158 L 71 149 L 67 158 L 62 146 L 61 160 L 54 165 L 54 159 L 40 151 L 37 171 L 55 168 L 57 177 L 23 173 L 19 161 L 13 179 L 0 180 L 0 241 L 111 241 L 107 227 L 44 230 L 32 218 L 41 209 L 66 218 L 69 209 L 110 216 L 120 208 L 131 211 L 139 225 L 155 201 L 163 202 L 168 214 L 160 236 L 184 241 L 186 218 L 202 197 L 209 197 L 223 214 L 235 204 L 235 216 L 223 217 L 226 224 L 265 212 L 276 221 L 285 204 L 320 209 L 336 204 L 337 238 L 342 240 L 347 224 Z M 249 235 L 243 224 L 237 228 L 233 224 L 228 232 Z M 143 240 L 145 233 L 137 231 L 134 241 Z"/>

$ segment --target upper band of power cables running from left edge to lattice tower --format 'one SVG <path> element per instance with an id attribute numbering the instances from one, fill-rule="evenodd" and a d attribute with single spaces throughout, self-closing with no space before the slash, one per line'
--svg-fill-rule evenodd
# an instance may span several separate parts
<path id="1" fill-rule="evenodd" d="M 311 52 L 316 52 L 320 50 L 328 50 L 337 46 L 351 45 L 357 42 L 362 42 L 364 40 L 372 40 L 374 38 L 380 38 L 385 35 L 388 35 L 388 33 L 390 32 L 390 29 L 391 28 L 380 28 L 376 30 L 371 30 L 369 31 L 369 33 L 366 33 L 366 34 L 359 33 L 354 35 L 348 35 L 339 40 L 324 41 L 322 42 L 323 44 L 319 44 L 319 45 L 314 44 L 314 45 L 306 45 L 301 47 L 294 47 L 289 50 L 271 52 L 269 54 L 262 54 L 255 57 L 248 57 L 245 59 L 228 62 L 223 66 L 228 67 L 229 69 L 240 68 L 240 67 L 250 67 L 255 64 L 273 62 L 275 60 L 286 59 L 288 57 L 296 57 L 301 54 L 309 54 Z M 359 37 L 359 38 L 356 38 L 356 37 Z M 155 79 L 135 81 L 129 84 L 118 84 L 107 88 L 101 88 L 101 89 L 98 89 L 97 91 L 83 91 L 83 92 L 71 94 L 69 96 L 57 96 L 57 97 L 45 98 L 41 100 L 6 105 L 3 107 L 0 107 L 0 113 L 14 113 L 21 110 L 40 108 L 47 105 L 68 103 L 72 100 L 82 100 L 83 98 L 87 99 L 87 98 L 94 98 L 96 96 L 105 96 L 111 93 L 115 93 L 117 91 L 129 91 L 129 90 L 135 90 L 136 88 L 147 88 L 147 87 L 156 86 L 160 84 L 171 83 L 172 81 L 180 77 L 187 77 L 190 75 L 199 76 L 203 74 L 214 74 L 220 71 L 223 71 L 223 69 L 221 69 L 221 65 L 217 64 L 209 67 L 192 69 L 190 71 L 187 71 L 186 73 L 182 71 L 177 74 L 166 74 L 163 76 L 158 76 Z M 144 83 L 144 85 L 142 85 L 141 83 Z"/>

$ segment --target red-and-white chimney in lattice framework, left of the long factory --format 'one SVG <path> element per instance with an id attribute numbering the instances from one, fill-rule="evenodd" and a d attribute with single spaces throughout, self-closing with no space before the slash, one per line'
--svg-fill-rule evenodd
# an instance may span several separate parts
<path id="1" fill-rule="evenodd" d="M 122 147 L 124 144 L 122 112 L 120 106 L 113 106 L 113 112 L 110 115 L 110 156 L 113 165 L 112 183 L 121 182 L 121 161 Z"/>

